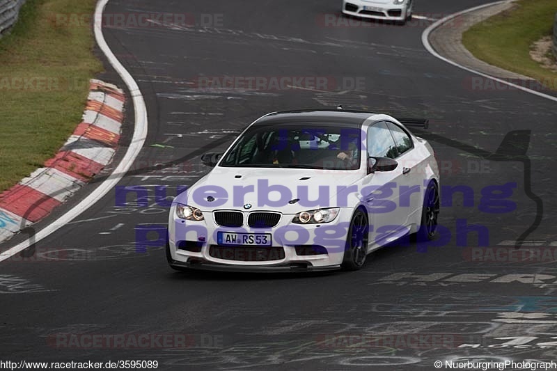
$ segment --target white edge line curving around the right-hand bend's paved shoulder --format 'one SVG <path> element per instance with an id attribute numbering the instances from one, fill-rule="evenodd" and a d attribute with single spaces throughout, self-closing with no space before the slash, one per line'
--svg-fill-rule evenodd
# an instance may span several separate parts
<path id="1" fill-rule="evenodd" d="M 506 3 L 506 2 L 509 2 L 509 1 L 508 0 L 495 1 L 494 3 L 487 3 L 487 4 L 480 5 L 480 6 L 475 6 L 473 8 L 469 8 L 469 9 L 466 9 L 466 10 L 462 10 L 458 13 L 448 15 L 447 17 L 444 17 L 443 19 L 439 19 L 437 22 L 435 22 L 434 24 L 431 24 L 429 27 L 427 27 L 427 29 L 425 29 L 425 31 L 423 31 L 423 33 L 422 33 L 422 44 L 423 44 L 423 46 L 425 47 L 425 49 L 427 49 L 427 52 L 430 52 L 433 56 L 436 56 L 437 58 L 441 59 L 441 61 L 445 61 L 446 63 L 449 63 L 451 65 L 455 65 L 458 68 L 462 68 L 462 70 L 472 72 L 473 74 L 478 74 L 479 76 L 482 76 L 482 77 L 487 77 L 488 79 L 492 79 L 492 80 L 497 81 L 501 84 L 512 86 L 513 88 L 517 88 L 519 90 L 525 91 L 526 93 L 531 93 L 533 95 L 538 95 L 538 97 L 542 97 L 542 98 L 557 102 L 557 97 L 555 97 L 554 95 L 544 94 L 544 93 L 541 93 L 539 91 L 526 88 L 524 86 L 520 86 L 520 85 L 517 85 L 517 84 L 512 84 L 512 82 L 505 81 L 503 79 L 499 79 L 498 77 L 494 77 L 494 76 L 491 76 L 489 74 L 485 74 L 483 72 L 473 70 L 472 68 L 468 68 L 464 65 L 456 63 L 455 61 L 451 61 L 450 59 L 445 58 L 444 56 L 441 56 L 439 53 L 435 52 L 435 50 L 431 46 L 430 40 L 429 40 L 430 33 L 434 29 L 437 29 L 437 27 L 441 26 L 441 24 L 444 24 L 444 23 L 450 21 L 450 19 L 458 17 L 459 15 L 463 15 L 463 14 L 466 14 L 466 13 L 473 12 L 474 10 L 480 10 L 482 8 L 487 8 L 489 6 L 495 6 L 495 5 L 499 5 L 501 3 Z M 535 79 L 533 79 L 533 80 L 535 80 Z"/>

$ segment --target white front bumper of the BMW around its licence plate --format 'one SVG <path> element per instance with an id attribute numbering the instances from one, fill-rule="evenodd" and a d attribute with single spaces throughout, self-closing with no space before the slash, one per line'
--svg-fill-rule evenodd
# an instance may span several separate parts
<path id="1" fill-rule="evenodd" d="M 183 221 L 175 217 L 174 209 L 175 206 L 171 207 L 168 221 L 170 264 L 173 267 L 217 271 L 338 269 L 343 262 L 346 235 L 353 212 L 352 209 L 343 207 L 330 223 L 303 226 L 291 222 L 293 215 L 283 214 L 276 226 L 262 229 L 218 226 L 212 212 L 203 212 L 203 221 Z M 217 241 L 218 232 L 265 233 L 271 235 L 272 245 L 223 246 Z M 308 254 L 311 247 L 304 246 L 319 248 L 317 252 Z M 256 253 L 253 253 L 253 249 Z M 276 251 L 280 251 L 280 254 Z M 259 257 L 259 254 L 262 259 L 253 259 L 254 256 Z"/>

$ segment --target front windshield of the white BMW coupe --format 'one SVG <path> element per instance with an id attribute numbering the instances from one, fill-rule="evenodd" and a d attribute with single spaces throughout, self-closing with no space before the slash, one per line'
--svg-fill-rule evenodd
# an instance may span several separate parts
<path id="1" fill-rule="evenodd" d="M 334 125 L 251 127 L 220 166 L 355 170 L 360 167 L 361 129 Z"/>

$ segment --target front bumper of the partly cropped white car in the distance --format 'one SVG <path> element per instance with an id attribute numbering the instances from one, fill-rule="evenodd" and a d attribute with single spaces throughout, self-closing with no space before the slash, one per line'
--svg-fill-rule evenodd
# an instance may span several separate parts
<path id="1" fill-rule="evenodd" d="M 368 9 L 372 10 L 366 10 Z M 361 0 L 344 0 L 343 13 L 346 15 L 353 15 L 354 17 L 362 17 L 369 19 L 385 19 L 391 21 L 403 21 L 407 18 L 408 10 L 407 3 L 395 5 L 377 4 L 370 1 Z"/>

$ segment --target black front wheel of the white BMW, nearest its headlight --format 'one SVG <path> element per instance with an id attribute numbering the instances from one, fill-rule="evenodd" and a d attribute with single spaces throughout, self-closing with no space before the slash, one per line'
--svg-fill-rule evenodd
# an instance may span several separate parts
<path id="1" fill-rule="evenodd" d="M 363 267 L 366 263 L 368 255 L 368 218 L 366 214 L 358 209 L 352 216 L 348 235 L 346 237 L 346 246 L 344 252 L 344 260 L 341 267 L 347 271 L 356 271 Z"/>

